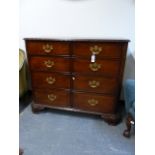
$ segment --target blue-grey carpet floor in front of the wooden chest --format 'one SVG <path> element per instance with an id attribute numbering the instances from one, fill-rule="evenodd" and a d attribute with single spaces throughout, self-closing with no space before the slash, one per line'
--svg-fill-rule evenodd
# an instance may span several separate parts
<path id="1" fill-rule="evenodd" d="M 125 123 L 110 126 L 100 117 L 45 110 L 20 114 L 24 155 L 134 155 L 135 137 L 124 138 Z"/>

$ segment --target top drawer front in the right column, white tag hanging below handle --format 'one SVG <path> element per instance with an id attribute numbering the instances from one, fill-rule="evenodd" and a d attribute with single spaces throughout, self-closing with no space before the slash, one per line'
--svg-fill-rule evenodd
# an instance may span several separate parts
<path id="1" fill-rule="evenodd" d="M 73 54 L 76 56 L 120 58 L 122 45 L 118 43 L 74 43 Z"/>

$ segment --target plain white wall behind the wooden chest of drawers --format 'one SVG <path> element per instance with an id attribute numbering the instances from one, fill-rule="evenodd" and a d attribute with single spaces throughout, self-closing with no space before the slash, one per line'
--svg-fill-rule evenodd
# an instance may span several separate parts
<path id="1" fill-rule="evenodd" d="M 20 48 L 25 37 L 125 38 L 130 55 L 134 9 L 134 0 L 20 0 Z M 131 68 L 126 73 L 134 77 Z"/>

